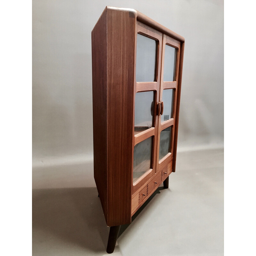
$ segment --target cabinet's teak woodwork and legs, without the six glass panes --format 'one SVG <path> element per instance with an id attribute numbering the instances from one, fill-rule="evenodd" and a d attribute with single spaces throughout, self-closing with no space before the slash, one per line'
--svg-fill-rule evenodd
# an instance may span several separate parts
<path id="1" fill-rule="evenodd" d="M 155 81 L 136 82 L 137 34 L 158 42 Z M 163 81 L 165 44 L 178 49 L 176 79 Z M 159 185 L 168 187 L 175 172 L 184 38 L 125 8 L 106 7 L 92 30 L 92 100 L 94 179 L 110 226 L 107 252 L 112 253 L 120 225 L 132 215 Z M 173 116 L 161 123 L 164 89 L 174 89 Z M 135 94 L 154 91 L 153 126 L 134 131 Z M 170 153 L 159 161 L 160 132 L 172 126 Z M 150 169 L 133 183 L 134 146 L 153 139 Z"/>

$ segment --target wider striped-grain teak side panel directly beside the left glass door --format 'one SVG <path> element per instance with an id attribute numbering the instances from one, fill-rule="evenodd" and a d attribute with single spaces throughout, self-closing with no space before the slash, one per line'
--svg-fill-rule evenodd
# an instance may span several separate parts
<path id="1" fill-rule="evenodd" d="M 135 25 L 107 9 L 108 226 L 131 223 Z"/>

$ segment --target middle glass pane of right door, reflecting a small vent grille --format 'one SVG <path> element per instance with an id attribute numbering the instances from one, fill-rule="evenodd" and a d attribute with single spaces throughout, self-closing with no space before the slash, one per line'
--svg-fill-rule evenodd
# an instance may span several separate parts
<path id="1" fill-rule="evenodd" d="M 162 101 L 164 102 L 164 111 L 161 116 L 161 123 L 166 120 L 173 118 L 173 100 L 174 100 L 174 89 L 163 90 Z"/>

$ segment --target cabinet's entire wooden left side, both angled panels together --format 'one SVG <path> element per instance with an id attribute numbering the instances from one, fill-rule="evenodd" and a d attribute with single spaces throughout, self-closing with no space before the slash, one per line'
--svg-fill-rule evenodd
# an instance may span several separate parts
<path id="1" fill-rule="evenodd" d="M 106 8 L 92 30 L 94 178 L 108 226 L 131 222 L 135 27 Z"/>

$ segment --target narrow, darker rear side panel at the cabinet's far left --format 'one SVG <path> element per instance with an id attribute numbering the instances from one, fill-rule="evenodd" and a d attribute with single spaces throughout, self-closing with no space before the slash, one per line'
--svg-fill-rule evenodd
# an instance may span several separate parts
<path id="1" fill-rule="evenodd" d="M 105 9 L 106 10 L 106 9 Z M 107 222 L 107 12 L 92 30 L 94 180 Z"/>

